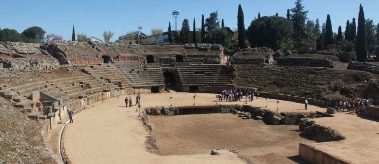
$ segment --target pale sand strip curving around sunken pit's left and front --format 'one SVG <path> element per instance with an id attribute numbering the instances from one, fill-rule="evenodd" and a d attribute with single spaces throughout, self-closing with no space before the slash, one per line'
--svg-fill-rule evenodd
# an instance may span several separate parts
<path id="1" fill-rule="evenodd" d="M 150 99 L 150 106 L 156 106 L 159 102 L 152 100 L 157 97 L 157 94 L 142 95 L 141 100 L 149 102 Z M 124 97 L 106 100 L 81 113 L 66 127 L 63 144 L 69 161 L 73 164 L 244 164 L 226 151 L 217 156 L 211 156 L 211 150 L 207 154 L 186 156 L 158 156 L 148 152 L 145 148 L 148 133 L 137 117 L 138 112 L 135 107 L 125 108 L 123 100 Z"/>

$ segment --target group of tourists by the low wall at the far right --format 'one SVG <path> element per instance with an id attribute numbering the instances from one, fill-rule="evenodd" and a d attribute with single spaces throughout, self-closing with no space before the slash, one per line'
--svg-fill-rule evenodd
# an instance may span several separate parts
<path id="1" fill-rule="evenodd" d="M 350 100 L 350 101 L 339 101 L 336 103 L 336 110 L 337 111 L 347 111 L 350 110 L 355 110 L 355 112 L 362 111 L 363 109 L 368 109 L 369 105 L 369 99 L 363 100 L 363 99 L 358 99 L 358 100 Z"/>

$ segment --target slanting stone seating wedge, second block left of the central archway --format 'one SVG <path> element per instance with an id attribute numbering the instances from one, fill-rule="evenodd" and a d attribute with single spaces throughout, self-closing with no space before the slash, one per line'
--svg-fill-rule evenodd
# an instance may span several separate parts
<path id="1" fill-rule="evenodd" d="M 82 71 L 90 74 L 95 79 L 103 79 L 107 82 L 114 83 L 120 88 L 131 88 L 132 83 L 123 75 L 116 67 L 116 64 L 98 64 L 89 67 L 81 68 Z M 90 87 L 99 85 L 96 82 L 87 83 Z"/>

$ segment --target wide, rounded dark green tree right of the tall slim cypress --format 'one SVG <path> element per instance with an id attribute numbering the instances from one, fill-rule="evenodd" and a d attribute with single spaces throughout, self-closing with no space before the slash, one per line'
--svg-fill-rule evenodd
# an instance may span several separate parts
<path id="1" fill-rule="evenodd" d="M 269 47 L 274 50 L 291 50 L 293 24 L 284 17 L 264 16 L 254 20 L 247 36 L 252 47 Z"/>

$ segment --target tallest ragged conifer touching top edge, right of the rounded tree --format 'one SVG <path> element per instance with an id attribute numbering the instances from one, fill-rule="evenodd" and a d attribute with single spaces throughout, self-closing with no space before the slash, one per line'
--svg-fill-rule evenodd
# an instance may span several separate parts
<path id="1" fill-rule="evenodd" d="M 293 22 L 293 39 L 296 47 L 304 47 L 301 43 L 307 42 L 308 36 L 306 34 L 305 21 L 307 20 L 308 11 L 304 10 L 301 3 L 303 0 L 297 0 L 295 7 L 291 9 L 291 20 Z"/>

